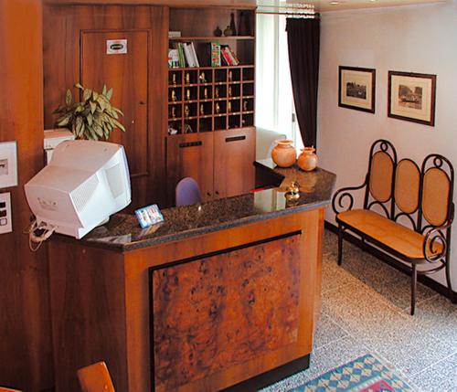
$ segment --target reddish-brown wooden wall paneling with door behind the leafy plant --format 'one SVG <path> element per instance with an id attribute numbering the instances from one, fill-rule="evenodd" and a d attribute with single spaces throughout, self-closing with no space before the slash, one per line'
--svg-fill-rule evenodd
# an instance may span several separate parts
<path id="1" fill-rule="evenodd" d="M 104 58 L 101 61 L 103 64 L 106 60 L 105 57 L 97 57 L 95 52 L 92 56 L 82 56 L 81 39 L 84 48 L 83 41 L 86 35 L 90 37 L 91 34 L 104 32 L 112 35 L 112 37 L 118 37 L 116 31 L 123 31 L 131 37 L 139 37 L 142 31 L 147 32 L 146 48 L 142 48 L 141 43 L 133 48 L 135 58 L 139 56 L 142 64 L 146 61 L 144 58 L 146 56 L 146 69 L 140 70 L 137 75 L 132 75 L 129 69 L 122 69 L 129 62 L 118 61 L 114 67 L 122 69 L 122 74 L 117 79 L 111 74 L 112 68 L 110 66 L 104 69 L 101 67 L 100 76 L 89 80 L 102 83 L 106 79 L 105 72 L 109 72 L 110 75 L 107 78 L 112 79 L 112 84 L 118 86 L 118 89 L 114 89 L 114 102 L 122 96 L 122 92 L 117 90 L 128 91 L 127 97 L 123 97 L 125 101 L 122 101 L 122 105 L 126 107 L 120 105 L 120 109 L 126 114 L 126 117 L 123 118 L 125 125 L 127 128 L 135 125 L 135 132 L 119 136 L 116 134 L 118 131 L 116 131 L 112 141 L 117 143 L 126 141 L 126 150 L 130 150 L 132 153 L 128 154 L 130 155 L 128 158 L 133 175 L 133 204 L 130 209 L 153 202 L 163 203 L 165 201 L 165 186 L 160 185 L 165 184 L 164 133 L 166 132 L 166 113 L 164 114 L 164 112 L 166 105 L 162 98 L 166 97 L 167 12 L 166 7 L 144 5 L 48 5 L 45 8 L 47 26 L 45 28 L 44 51 L 45 117 L 48 127 L 51 127 L 55 121 L 55 116 L 51 112 L 63 102 L 65 90 L 80 81 L 81 77 L 82 79 L 87 78 L 87 73 L 81 73 L 81 68 L 83 68 L 81 66 L 84 64 L 89 66 L 89 63 L 85 63 L 85 61 L 100 62 Z M 49 31 L 50 27 L 48 28 L 48 26 L 56 26 L 59 34 L 56 31 Z M 65 38 L 59 38 L 61 36 Z M 140 41 L 142 39 L 144 38 L 140 38 Z M 86 45 L 90 45 L 89 42 Z M 101 42 L 99 45 L 101 46 Z M 88 54 L 90 51 L 88 48 Z M 60 58 L 54 62 L 56 56 L 60 56 Z M 115 61 L 110 58 L 110 62 Z M 106 63 L 105 65 L 109 66 L 110 64 Z M 132 69 L 133 66 L 135 65 L 131 62 L 127 68 Z M 96 67 L 95 62 L 90 67 Z M 110 69 L 110 71 L 105 69 Z M 149 84 L 142 83 L 144 72 L 147 73 L 146 80 L 149 80 Z M 87 87 L 92 86 L 88 85 Z M 147 89 L 145 95 L 143 89 Z M 75 89 L 73 91 L 75 94 L 78 93 Z M 129 101 L 130 94 L 135 96 L 132 101 Z M 146 120 L 144 120 L 144 115 L 146 115 Z M 134 121 L 133 124 L 132 121 Z M 138 125 L 137 122 L 140 122 L 141 125 Z M 144 128 L 144 122 L 147 124 L 145 127 L 147 134 L 138 132 Z"/>

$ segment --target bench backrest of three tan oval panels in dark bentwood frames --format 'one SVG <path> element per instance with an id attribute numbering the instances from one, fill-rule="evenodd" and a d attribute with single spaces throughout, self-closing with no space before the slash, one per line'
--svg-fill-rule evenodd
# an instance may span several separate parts
<path id="1" fill-rule="evenodd" d="M 364 209 L 380 207 L 393 221 L 409 220 L 425 233 L 452 221 L 454 174 L 451 162 L 440 154 L 428 155 L 421 167 L 404 158 L 387 140 L 371 146 Z"/>

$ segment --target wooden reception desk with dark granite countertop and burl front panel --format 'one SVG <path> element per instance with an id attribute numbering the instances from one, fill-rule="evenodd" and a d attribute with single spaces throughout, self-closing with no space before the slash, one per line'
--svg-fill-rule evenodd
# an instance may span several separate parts
<path id="1" fill-rule="evenodd" d="M 101 360 L 132 392 L 254 390 L 308 366 L 335 175 L 256 170 L 277 186 L 165 209 L 152 228 L 117 214 L 82 240 L 53 238 L 58 391 L 80 390 L 76 370 Z"/>

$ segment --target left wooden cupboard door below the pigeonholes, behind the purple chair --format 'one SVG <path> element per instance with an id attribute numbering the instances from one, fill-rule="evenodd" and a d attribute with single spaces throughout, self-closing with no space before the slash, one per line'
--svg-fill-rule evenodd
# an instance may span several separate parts
<path id="1" fill-rule="evenodd" d="M 204 201 L 213 199 L 213 134 L 189 133 L 168 137 L 166 141 L 168 200 L 175 204 L 175 186 L 194 178 Z"/>

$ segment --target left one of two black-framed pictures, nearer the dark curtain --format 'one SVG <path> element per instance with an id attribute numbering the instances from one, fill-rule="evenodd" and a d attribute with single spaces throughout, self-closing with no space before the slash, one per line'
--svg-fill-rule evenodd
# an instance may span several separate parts
<path id="1" fill-rule="evenodd" d="M 338 106 L 375 112 L 376 69 L 339 67 Z"/>

